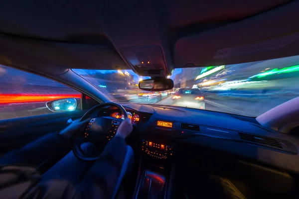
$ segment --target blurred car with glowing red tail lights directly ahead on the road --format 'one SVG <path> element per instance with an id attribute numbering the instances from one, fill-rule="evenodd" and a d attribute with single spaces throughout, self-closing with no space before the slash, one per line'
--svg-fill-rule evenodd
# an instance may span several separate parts
<path id="1" fill-rule="evenodd" d="M 205 101 L 199 89 L 179 89 L 171 98 L 173 105 L 205 109 Z"/>

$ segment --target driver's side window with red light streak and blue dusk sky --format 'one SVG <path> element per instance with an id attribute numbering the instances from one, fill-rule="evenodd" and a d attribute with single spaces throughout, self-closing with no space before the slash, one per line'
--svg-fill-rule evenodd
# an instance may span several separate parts
<path id="1" fill-rule="evenodd" d="M 73 103 L 80 97 L 78 91 L 63 84 L 0 65 L 0 120 L 62 112 L 63 106 L 51 103 L 52 100 L 71 99 L 65 101 Z M 57 111 L 51 111 L 49 104 Z M 67 108 L 66 111 L 72 111 Z"/>

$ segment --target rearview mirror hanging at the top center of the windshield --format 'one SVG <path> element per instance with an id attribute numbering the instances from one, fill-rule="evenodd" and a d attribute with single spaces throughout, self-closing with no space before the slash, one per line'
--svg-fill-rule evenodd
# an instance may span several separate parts
<path id="1" fill-rule="evenodd" d="M 173 81 L 166 78 L 153 78 L 139 82 L 139 88 L 145 91 L 166 91 L 173 88 Z"/>

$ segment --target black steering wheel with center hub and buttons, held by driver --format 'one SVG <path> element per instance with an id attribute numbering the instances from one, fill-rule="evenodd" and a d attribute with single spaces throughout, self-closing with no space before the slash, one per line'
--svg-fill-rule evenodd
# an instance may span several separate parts
<path id="1" fill-rule="evenodd" d="M 80 121 L 84 121 L 90 118 L 95 111 L 98 111 L 99 109 L 105 106 L 117 107 L 122 111 L 125 119 L 128 117 L 127 111 L 122 105 L 115 102 L 105 102 L 89 109 L 81 117 Z M 90 156 L 82 150 L 81 145 L 83 143 L 90 142 L 97 147 L 99 142 L 103 141 L 103 138 L 109 141 L 115 136 L 116 131 L 122 121 L 123 121 L 122 118 L 114 118 L 111 116 L 101 116 L 101 117 L 91 118 L 86 128 L 84 129 L 84 133 L 82 133 L 82 131 L 78 131 L 77 133 L 74 133 L 74 137 L 73 137 L 74 155 L 79 160 L 82 161 L 97 160 L 100 154 Z"/>

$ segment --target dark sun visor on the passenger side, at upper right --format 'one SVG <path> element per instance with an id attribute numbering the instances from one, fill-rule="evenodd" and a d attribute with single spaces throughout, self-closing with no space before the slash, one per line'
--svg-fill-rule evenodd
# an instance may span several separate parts
<path id="1" fill-rule="evenodd" d="M 174 46 L 176 67 L 217 66 L 298 55 L 299 1 L 220 28 L 189 35 Z"/>

